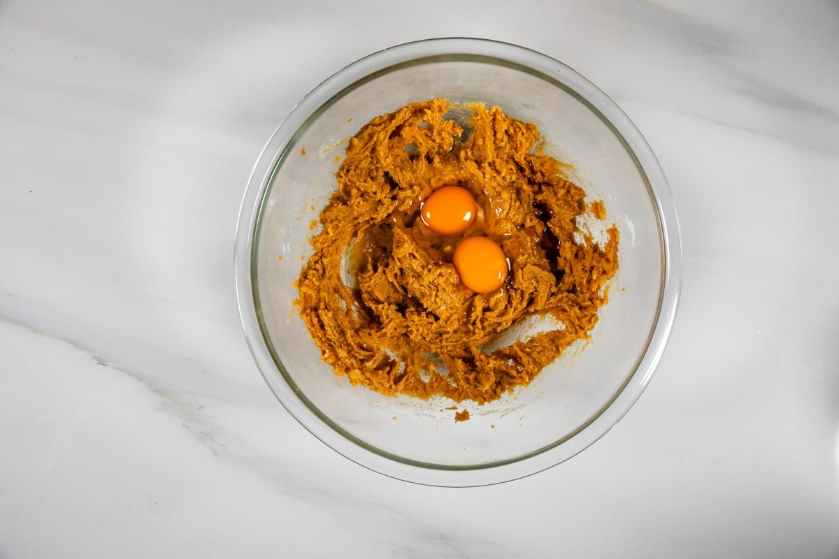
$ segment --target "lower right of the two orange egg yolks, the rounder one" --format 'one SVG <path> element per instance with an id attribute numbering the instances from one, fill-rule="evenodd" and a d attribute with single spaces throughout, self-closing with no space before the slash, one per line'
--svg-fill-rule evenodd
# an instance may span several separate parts
<path id="1" fill-rule="evenodd" d="M 495 241 L 468 237 L 455 249 L 454 263 L 461 283 L 476 293 L 488 293 L 507 279 L 507 256 Z"/>

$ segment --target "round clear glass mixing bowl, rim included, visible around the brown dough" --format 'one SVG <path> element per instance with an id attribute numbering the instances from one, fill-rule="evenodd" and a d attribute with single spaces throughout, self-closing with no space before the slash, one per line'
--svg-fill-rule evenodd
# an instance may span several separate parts
<path id="1" fill-rule="evenodd" d="M 294 300 L 320 210 L 347 140 L 373 116 L 446 97 L 534 122 L 545 151 L 571 163 L 620 230 L 619 270 L 591 340 L 529 386 L 454 421 L 453 402 L 381 396 L 320 360 Z M 482 39 L 430 39 L 371 54 L 318 85 L 277 128 L 253 168 L 236 240 L 245 334 L 285 408 L 347 458 L 394 478 L 470 486 L 534 474 L 571 458 L 623 417 L 649 383 L 680 291 L 670 189 L 628 117 L 574 70 Z"/>

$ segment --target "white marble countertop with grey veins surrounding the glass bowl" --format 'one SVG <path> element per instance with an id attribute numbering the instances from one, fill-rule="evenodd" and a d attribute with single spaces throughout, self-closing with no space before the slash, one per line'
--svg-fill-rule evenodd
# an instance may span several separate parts
<path id="1" fill-rule="evenodd" d="M 279 120 L 352 60 L 445 35 L 618 101 L 685 256 L 623 421 L 478 489 L 311 437 L 233 287 Z M 837 60 L 839 4 L 815 0 L 0 2 L 0 557 L 839 556 Z"/>

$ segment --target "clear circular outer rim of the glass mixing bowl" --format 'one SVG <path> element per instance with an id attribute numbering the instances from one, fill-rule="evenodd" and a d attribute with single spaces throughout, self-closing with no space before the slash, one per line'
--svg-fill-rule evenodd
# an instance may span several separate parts
<path id="1" fill-rule="evenodd" d="M 612 400 L 576 432 L 545 448 L 501 463 L 457 468 L 418 463 L 384 451 L 377 452 L 376 448 L 359 443 L 352 435 L 347 436 L 326 414 L 313 410 L 313 406 L 306 403 L 305 396 L 284 380 L 283 365 L 272 355 L 270 342 L 264 339 L 252 273 L 260 207 L 275 169 L 283 159 L 284 149 L 294 143 L 294 135 L 300 127 L 353 86 L 373 79 L 396 65 L 447 58 L 475 58 L 494 64 L 513 65 L 518 70 L 555 82 L 594 111 L 623 143 L 634 158 L 639 173 L 646 179 L 659 220 L 664 260 L 659 308 L 647 348 Z M 419 484 L 457 487 L 496 484 L 535 474 L 575 456 L 608 432 L 638 400 L 659 364 L 675 321 L 682 274 L 680 230 L 670 186 L 649 144 L 628 116 L 597 86 L 560 61 L 516 44 L 473 38 L 424 39 L 369 54 L 331 75 L 294 106 L 268 139 L 248 179 L 239 210 L 234 267 L 239 313 L 248 347 L 268 387 L 292 417 L 337 453 L 380 474 Z"/>

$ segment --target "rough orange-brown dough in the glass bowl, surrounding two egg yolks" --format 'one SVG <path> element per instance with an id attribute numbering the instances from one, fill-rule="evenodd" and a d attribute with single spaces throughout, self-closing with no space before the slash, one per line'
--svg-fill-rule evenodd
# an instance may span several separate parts
<path id="1" fill-rule="evenodd" d="M 443 99 L 377 116 L 352 137 L 297 282 L 300 315 L 336 374 L 385 395 L 482 404 L 588 338 L 618 267 L 618 229 L 598 246 L 577 228 L 588 207 L 605 215 L 602 201 L 588 206 L 538 146 L 533 124 Z M 447 184 L 471 191 L 478 206 L 455 236 L 419 217 L 421 200 Z M 508 258 L 495 292 L 471 292 L 451 263 L 457 241 L 472 235 L 496 241 Z M 561 326 L 487 349 L 533 315 Z"/>

